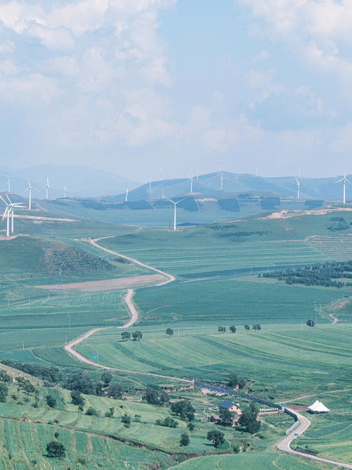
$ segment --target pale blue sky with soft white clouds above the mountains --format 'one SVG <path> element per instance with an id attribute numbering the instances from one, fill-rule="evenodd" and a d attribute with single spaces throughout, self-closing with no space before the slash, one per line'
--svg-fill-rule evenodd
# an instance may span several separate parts
<path id="1" fill-rule="evenodd" d="M 2 0 L 0 166 L 352 173 L 351 46 L 351 0 Z"/>

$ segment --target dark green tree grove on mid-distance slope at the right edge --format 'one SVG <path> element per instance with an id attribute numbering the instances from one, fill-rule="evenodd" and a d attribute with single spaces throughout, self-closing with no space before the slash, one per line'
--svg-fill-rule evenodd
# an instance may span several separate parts
<path id="1" fill-rule="evenodd" d="M 284 280 L 287 284 L 322 285 L 324 287 L 345 287 L 352 283 L 343 283 L 341 278 L 352 278 L 352 261 L 327 261 L 303 268 L 285 269 L 263 273 L 264 278 Z"/>

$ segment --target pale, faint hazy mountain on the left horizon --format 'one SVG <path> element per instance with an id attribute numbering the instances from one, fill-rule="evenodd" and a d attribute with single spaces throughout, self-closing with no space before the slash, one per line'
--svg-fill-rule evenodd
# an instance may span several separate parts
<path id="1" fill-rule="evenodd" d="M 125 190 L 126 183 L 130 188 L 139 183 L 127 180 L 123 176 L 113 175 L 106 171 L 89 166 L 37 165 L 28 168 L 0 167 L 0 192 L 6 191 L 8 178 L 11 180 L 11 193 L 23 195 L 28 187 L 28 178 L 36 188 L 32 196 L 45 197 L 46 177 L 49 178 L 50 197 L 63 197 L 63 187 L 68 188 L 68 197 L 100 197 L 101 194 L 118 194 Z"/>

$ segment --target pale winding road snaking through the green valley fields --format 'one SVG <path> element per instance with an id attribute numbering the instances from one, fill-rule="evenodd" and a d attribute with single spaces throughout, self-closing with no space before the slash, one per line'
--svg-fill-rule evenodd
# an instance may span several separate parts
<path id="1" fill-rule="evenodd" d="M 115 236 L 115 235 L 111 235 L 111 237 L 113 237 L 113 236 Z M 101 245 L 98 244 L 98 242 L 100 240 L 104 240 L 106 238 L 111 238 L 111 237 L 100 237 L 100 238 L 95 238 L 95 239 L 92 239 L 92 240 L 89 240 L 89 241 L 92 245 L 94 245 L 94 247 L 96 247 L 97 249 L 103 250 L 103 252 L 113 254 L 115 256 L 116 255 L 121 256 L 122 258 L 127 259 L 128 261 L 131 261 L 132 263 L 135 263 L 135 264 L 137 264 L 139 266 L 142 266 L 144 268 L 148 268 L 151 271 L 155 271 L 156 273 L 159 273 L 159 274 L 165 276 L 166 280 L 163 280 L 163 282 L 159 283 L 158 285 L 165 285 L 165 284 L 171 283 L 172 281 L 175 280 L 175 276 L 172 276 L 171 274 L 165 273 L 164 271 L 161 271 L 160 269 L 153 268 L 152 266 L 148 266 L 147 264 L 144 264 L 141 261 L 137 261 L 136 259 L 130 258 L 130 256 L 125 256 L 123 254 L 113 252 L 113 250 L 101 247 Z M 163 376 L 163 375 L 158 374 L 158 373 L 136 372 L 136 371 L 130 371 L 130 370 L 127 370 L 127 369 L 116 369 L 114 367 L 103 366 L 102 364 L 97 364 L 96 362 L 89 361 L 89 359 L 87 359 L 87 357 L 82 356 L 82 354 L 80 354 L 79 352 L 77 352 L 73 349 L 75 346 L 79 345 L 82 341 L 86 340 L 87 338 L 89 338 L 89 336 L 94 335 L 94 333 L 96 333 L 98 331 L 106 330 L 108 328 L 128 328 L 128 327 L 132 326 L 134 323 L 136 323 L 136 321 L 139 319 L 139 314 L 138 314 L 138 311 L 137 311 L 136 307 L 133 304 L 133 300 L 132 300 L 133 293 L 134 293 L 134 291 L 132 289 L 129 289 L 129 290 L 127 290 L 127 294 L 126 294 L 126 297 L 125 297 L 125 303 L 126 303 L 127 308 L 129 309 L 130 314 L 131 314 L 130 320 L 127 323 L 125 323 L 125 325 L 118 326 L 118 327 L 108 326 L 108 327 L 105 327 L 105 328 L 94 328 L 93 330 L 89 330 L 87 333 L 84 333 L 84 335 L 80 336 L 76 340 L 73 340 L 73 341 L 69 342 L 67 345 L 65 345 L 65 350 L 69 354 L 72 354 L 79 361 L 85 362 L 86 364 L 89 364 L 89 365 L 94 366 L 94 367 L 100 367 L 101 369 L 109 369 L 111 371 L 127 372 L 127 373 L 134 373 L 134 374 L 138 373 L 140 375 L 145 375 L 145 376 L 163 377 L 163 378 L 168 378 L 168 379 L 171 379 L 171 380 L 174 380 L 174 381 L 193 383 L 193 381 L 191 381 L 189 379 L 186 379 L 186 378 L 176 378 L 176 377 L 172 377 L 172 376 Z M 337 323 L 338 319 L 336 317 L 334 317 L 333 314 L 330 314 L 329 316 L 334 320 L 333 323 Z M 318 462 L 323 462 L 325 464 L 332 464 L 332 465 L 335 465 L 335 466 L 340 466 L 340 467 L 345 468 L 345 469 L 352 469 L 352 465 L 350 465 L 350 464 L 345 464 L 345 463 L 342 463 L 342 462 L 335 462 L 334 460 L 323 459 L 322 457 L 316 457 L 315 455 L 312 455 L 312 454 L 306 454 L 306 453 L 303 453 L 303 452 L 299 452 L 298 450 L 292 450 L 291 447 L 290 447 L 292 441 L 294 439 L 296 439 L 299 435 L 304 433 L 304 431 L 306 431 L 309 428 L 310 421 L 309 421 L 308 418 L 306 418 L 306 416 L 303 416 L 302 414 L 300 414 L 298 412 L 294 412 L 291 409 L 289 409 L 289 411 L 296 414 L 297 419 L 299 421 L 299 424 L 298 424 L 298 426 L 296 426 L 294 428 L 293 431 L 291 431 L 289 434 L 287 434 L 282 440 L 279 440 L 279 443 L 277 443 L 277 448 L 279 450 L 281 450 L 282 452 L 287 452 L 289 454 L 298 455 L 299 457 L 305 457 L 307 459 L 317 460 Z"/>

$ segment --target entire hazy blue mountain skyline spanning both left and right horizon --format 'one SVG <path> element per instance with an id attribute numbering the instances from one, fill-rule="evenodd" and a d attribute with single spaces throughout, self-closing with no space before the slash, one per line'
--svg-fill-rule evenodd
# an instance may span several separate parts
<path id="1" fill-rule="evenodd" d="M 6 190 L 8 178 L 11 180 L 11 193 L 23 196 L 30 178 L 35 199 L 44 199 L 46 177 L 50 183 L 50 199 L 63 197 L 63 187 L 68 188 L 68 197 L 96 197 L 123 202 L 125 188 L 128 185 L 130 201 L 161 199 L 177 197 L 191 192 L 190 178 L 156 180 L 144 185 L 89 166 L 37 165 L 27 168 L 0 167 L 0 192 Z M 301 178 L 301 199 L 333 199 L 342 197 L 342 184 L 334 184 L 341 176 L 332 178 Z M 347 178 L 352 181 L 352 176 Z M 222 189 L 221 189 L 222 186 Z M 283 176 L 280 178 L 262 177 L 250 174 L 230 173 L 227 171 L 208 173 L 193 178 L 192 191 L 195 197 L 224 198 L 228 194 L 251 194 L 253 196 L 296 197 L 296 177 Z M 352 185 L 346 185 L 347 200 L 352 199 Z"/>

